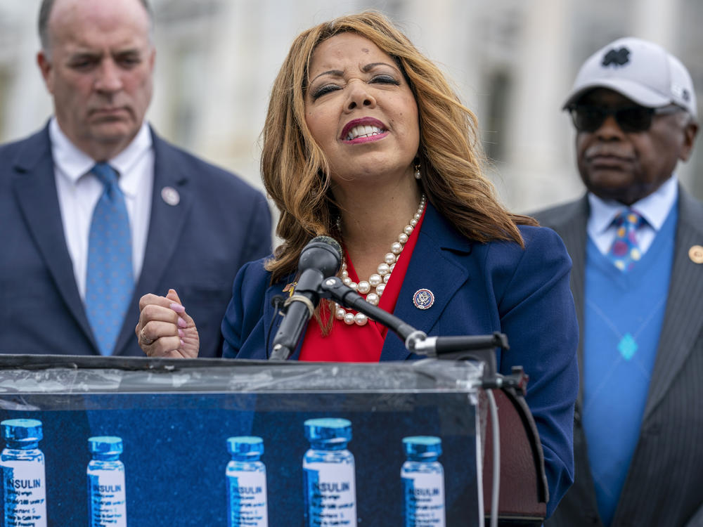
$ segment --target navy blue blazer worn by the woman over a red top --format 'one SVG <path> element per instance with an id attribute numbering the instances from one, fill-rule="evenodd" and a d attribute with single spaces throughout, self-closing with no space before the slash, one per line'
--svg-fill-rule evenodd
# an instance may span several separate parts
<path id="1" fill-rule="evenodd" d="M 579 330 L 564 244 L 550 229 L 520 230 L 525 249 L 515 242 L 473 242 L 428 204 L 394 314 L 428 335 L 508 335 L 510 350 L 498 353 L 498 369 L 508 374 L 512 365 L 522 365 L 529 375 L 526 400 L 544 450 L 551 514 L 574 479 Z M 271 299 L 292 279 L 270 285 L 263 260 L 242 268 L 222 322 L 223 356 L 266 358 L 266 335 L 276 334 L 281 320 Z M 413 304 L 421 288 L 435 297 L 425 311 Z M 380 360 L 407 358 L 404 343 L 389 332 Z"/>

